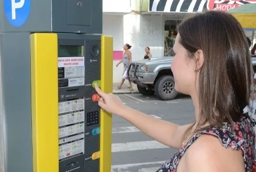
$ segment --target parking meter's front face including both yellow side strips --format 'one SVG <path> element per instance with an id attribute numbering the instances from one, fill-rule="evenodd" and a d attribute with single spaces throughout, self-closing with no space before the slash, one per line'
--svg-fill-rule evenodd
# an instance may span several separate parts
<path id="1" fill-rule="evenodd" d="M 96 57 L 87 53 L 92 46 L 99 48 Z M 34 172 L 48 170 L 47 150 L 54 153 L 49 172 L 111 171 L 112 114 L 98 106 L 100 96 L 94 84 L 112 93 L 112 57 L 113 38 L 109 36 L 31 34 Z M 53 62 L 47 72 L 42 72 L 49 61 Z M 50 117 L 45 115 L 49 104 Z M 52 140 L 50 145 L 47 139 Z"/>

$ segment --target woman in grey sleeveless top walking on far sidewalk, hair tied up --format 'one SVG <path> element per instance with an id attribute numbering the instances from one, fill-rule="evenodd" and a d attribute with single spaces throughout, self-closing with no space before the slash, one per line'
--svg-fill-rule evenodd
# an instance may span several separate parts
<path id="1" fill-rule="evenodd" d="M 120 64 L 120 63 L 123 63 L 123 65 L 124 65 L 124 69 L 123 69 L 123 73 L 122 73 L 122 75 L 124 74 L 124 72 L 128 69 L 128 67 L 129 67 L 129 65 L 130 65 L 130 63 L 131 63 L 131 61 L 132 61 L 132 53 L 130 52 L 130 48 L 131 48 L 132 46 L 130 46 L 129 44 L 125 44 L 124 46 L 123 46 L 123 49 L 124 49 L 124 53 L 123 53 L 123 59 L 122 60 L 120 60 L 117 64 L 116 64 L 116 67 Z M 118 89 L 121 89 L 121 87 L 122 87 L 122 85 L 123 85 L 123 83 L 124 83 L 124 80 L 125 79 L 122 79 L 121 80 L 121 83 L 120 83 L 120 85 L 119 86 L 117 86 L 117 88 Z M 132 85 L 132 82 L 130 81 L 130 80 L 128 80 L 129 81 L 129 83 L 130 83 L 130 86 L 128 87 L 128 88 L 133 88 L 133 85 Z"/>

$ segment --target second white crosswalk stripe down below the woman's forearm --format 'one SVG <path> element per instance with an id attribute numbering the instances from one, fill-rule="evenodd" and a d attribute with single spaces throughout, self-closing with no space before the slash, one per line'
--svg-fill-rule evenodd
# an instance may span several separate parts
<path id="1" fill-rule="evenodd" d="M 165 146 L 162 143 L 159 143 L 158 141 L 155 140 L 112 144 L 112 152 L 128 152 L 160 148 L 168 148 L 168 146 Z"/>

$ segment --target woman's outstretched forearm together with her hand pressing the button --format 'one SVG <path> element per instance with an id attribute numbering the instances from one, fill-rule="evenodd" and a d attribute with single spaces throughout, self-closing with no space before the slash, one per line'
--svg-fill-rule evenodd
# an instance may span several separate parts
<path id="1" fill-rule="evenodd" d="M 135 109 L 123 105 L 121 99 L 117 95 L 102 92 L 97 83 L 95 84 L 95 90 L 101 96 L 98 105 L 105 111 L 119 115 L 128 120 L 141 130 L 141 132 L 144 132 L 149 137 L 164 145 L 176 149 L 181 147 L 183 134 L 191 124 L 179 126 L 136 111 Z"/>

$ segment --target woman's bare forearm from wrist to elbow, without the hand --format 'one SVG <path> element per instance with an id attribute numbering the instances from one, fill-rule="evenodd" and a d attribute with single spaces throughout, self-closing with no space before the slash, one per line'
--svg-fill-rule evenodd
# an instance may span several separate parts
<path id="1" fill-rule="evenodd" d="M 176 149 L 181 147 L 183 134 L 188 127 L 191 126 L 191 124 L 179 126 L 162 119 L 156 119 L 128 106 L 122 107 L 120 114 L 118 115 L 128 120 L 132 125 L 149 137 L 166 146 Z"/>

